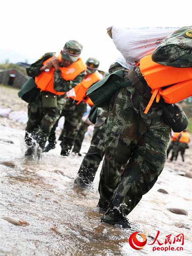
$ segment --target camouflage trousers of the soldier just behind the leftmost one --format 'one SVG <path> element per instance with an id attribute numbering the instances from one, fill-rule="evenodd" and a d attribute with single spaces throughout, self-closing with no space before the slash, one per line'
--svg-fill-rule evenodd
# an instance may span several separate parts
<path id="1" fill-rule="evenodd" d="M 65 117 L 65 123 L 59 139 L 61 140 L 60 145 L 63 151 L 70 151 L 72 149 L 72 146 L 75 143 L 75 137 L 77 136 L 77 131 L 82 122 L 83 113 L 86 112 L 86 104 L 84 102 L 81 102 L 79 105 L 76 103 L 77 102 L 72 99 L 65 99 L 62 112 L 59 116 L 59 118 L 61 116 Z M 55 130 L 59 118 L 52 128 L 49 142 L 52 142 L 53 138 L 55 138 Z"/>

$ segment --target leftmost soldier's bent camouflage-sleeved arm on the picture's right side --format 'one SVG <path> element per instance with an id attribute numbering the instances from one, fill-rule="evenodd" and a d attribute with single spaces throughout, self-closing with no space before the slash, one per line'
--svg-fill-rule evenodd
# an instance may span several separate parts
<path id="1" fill-rule="evenodd" d="M 66 81 L 61 77 L 60 70 L 54 70 L 54 90 L 66 93 L 79 84 L 85 75 L 86 71 L 83 71 L 74 80 Z"/>

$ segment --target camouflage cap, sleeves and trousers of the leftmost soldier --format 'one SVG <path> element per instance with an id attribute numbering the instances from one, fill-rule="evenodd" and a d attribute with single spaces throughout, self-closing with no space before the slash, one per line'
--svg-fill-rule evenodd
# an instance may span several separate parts
<path id="1" fill-rule="evenodd" d="M 77 41 L 68 41 L 65 44 L 64 49 L 66 49 L 66 52 L 69 49 L 73 49 L 74 51 L 77 51 L 78 53 L 81 52 L 82 46 Z M 67 54 L 62 53 L 64 57 L 67 60 L 75 61 L 75 57 L 73 57 L 73 60 L 68 57 Z M 40 68 L 43 66 L 43 62 L 48 59 L 48 54 L 43 55 L 40 60 L 36 61 L 34 64 L 32 64 L 29 68 L 27 68 L 27 73 L 29 76 L 32 76 L 33 78 L 35 76 L 40 75 L 41 71 Z M 51 56 L 53 56 L 54 53 L 51 53 Z M 62 55 L 62 58 L 63 58 Z M 60 63 L 60 67 L 62 67 L 62 63 Z M 85 76 L 86 72 L 83 71 L 80 73 L 74 80 L 72 81 L 65 81 L 61 75 L 60 70 L 54 70 L 54 90 L 57 92 L 67 92 L 71 90 L 73 87 L 75 87 L 80 81 L 82 81 L 83 77 Z M 54 96 L 54 93 L 49 92 L 40 92 L 37 95 L 37 98 L 34 100 L 34 102 L 29 103 L 28 105 L 28 117 L 29 120 L 27 122 L 26 127 L 26 136 L 25 141 L 28 146 L 32 146 L 32 138 L 37 141 L 40 148 L 44 148 L 46 140 L 49 137 L 49 134 L 51 132 L 51 129 L 54 125 L 54 123 L 57 121 L 57 119 L 60 116 L 60 113 L 63 109 L 63 104 L 65 103 L 65 99 L 63 95 L 57 96 L 57 107 L 55 108 L 44 108 L 42 107 L 42 100 L 41 96 L 43 94 L 49 94 Z M 30 149 L 30 148 L 29 148 Z M 29 155 L 31 154 L 31 150 Z M 28 155 L 26 153 L 26 155 Z"/>

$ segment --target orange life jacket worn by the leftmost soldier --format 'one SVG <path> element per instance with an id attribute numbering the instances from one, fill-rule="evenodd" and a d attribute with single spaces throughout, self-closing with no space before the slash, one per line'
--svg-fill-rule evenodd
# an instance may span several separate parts
<path id="1" fill-rule="evenodd" d="M 51 59 L 52 57 L 44 61 L 43 65 L 45 65 Z M 61 62 L 61 55 L 58 56 L 58 59 Z M 83 63 L 81 58 L 78 58 L 78 60 L 73 62 L 69 67 L 60 67 L 61 76 L 66 81 L 74 80 L 75 77 L 77 77 L 84 70 L 86 70 L 86 64 Z M 39 76 L 36 76 L 35 83 L 41 91 L 48 91 L 56 95 L 65 94 L 54 90 L 54 68 L 51 68 L 49 72 L 43 71 Z"/>

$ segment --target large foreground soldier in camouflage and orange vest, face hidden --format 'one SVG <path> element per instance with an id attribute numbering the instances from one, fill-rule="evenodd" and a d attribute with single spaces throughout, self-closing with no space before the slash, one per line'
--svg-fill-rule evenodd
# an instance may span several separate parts
<path id="1" fill-rule="evenodd" d="M 127 86 L 117 90 L 106 124 L 98 203 L 106 213 L 101 221 L 130 228 L 126 216 L 163 170 L 171 128 L 186 128 L 184 112 L 172 103 L 192 96 L 191 52 L 192 27 L 183 27 L 142 58 L 139 67 L 123 72 Z"/>

